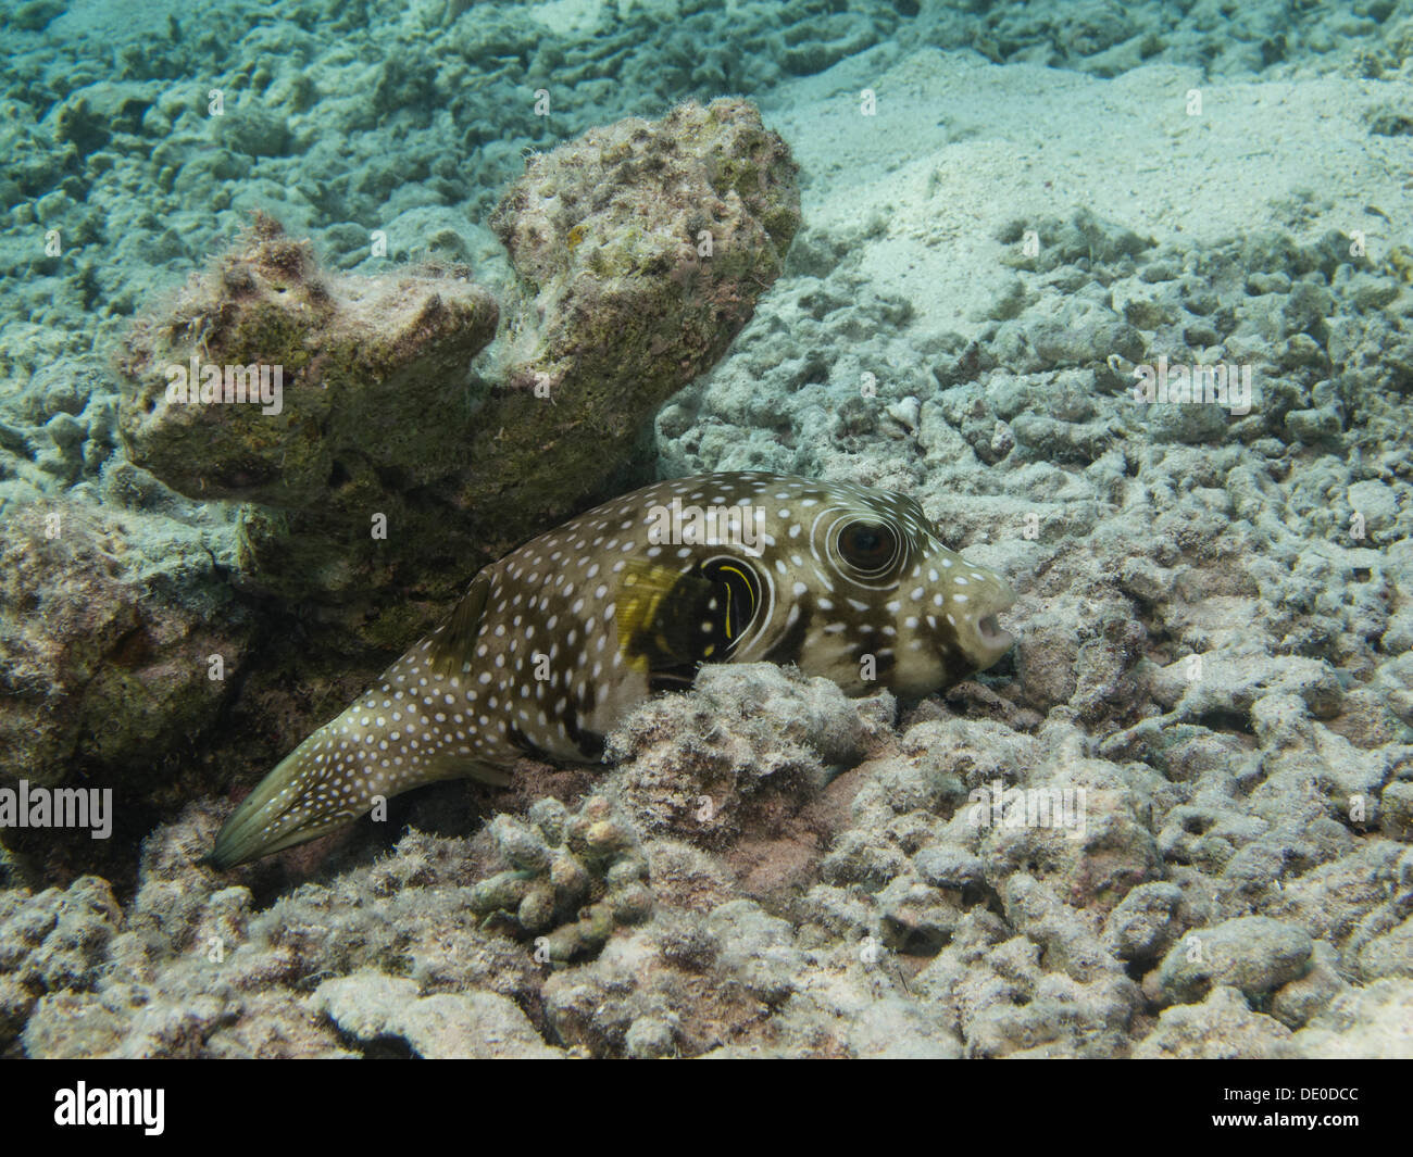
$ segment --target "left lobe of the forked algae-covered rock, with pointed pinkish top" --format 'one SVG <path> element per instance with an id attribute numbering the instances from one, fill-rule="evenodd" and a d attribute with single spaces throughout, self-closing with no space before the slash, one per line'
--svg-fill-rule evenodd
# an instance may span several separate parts
<path id="1" fill-rule="evenodd" d="M 463 273 L 332 277 L 257 216 L 130 338 L 133 461 L 194 497 L 294 509 L 360 509 L 379 472 L 432 482 L 471 431 L 465 367 L 496 328 Z"/>

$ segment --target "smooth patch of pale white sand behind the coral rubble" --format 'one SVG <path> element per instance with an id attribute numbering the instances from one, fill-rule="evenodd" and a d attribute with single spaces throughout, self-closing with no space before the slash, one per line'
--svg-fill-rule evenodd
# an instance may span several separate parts
<path id="1" fill-rule="evenodd" d="M 875 117 L 859 112 L 865 86 Z M 1200 116 L 1187 114 L 1194 88 Z M 1378 260 L 1406 239 L 1396 223 L 1413 210 L 1413 138 L 1371 136 L 1364 119 L 1390 89 L 1338 78 L 1204 86 L 1171 65 L 1104 81 L 927 49 L 784 86 L 766 121 L 805 171 L 805 220 L 883 215 L 861 274 L 910 298 L 918 324 L 969 333 L 1010 275 L 996 230 L 1017 218 L 1085 206 L 1160 242 L 1359 229 Z M 1316 196 L 1293 219 L 1301 191 Z"/>

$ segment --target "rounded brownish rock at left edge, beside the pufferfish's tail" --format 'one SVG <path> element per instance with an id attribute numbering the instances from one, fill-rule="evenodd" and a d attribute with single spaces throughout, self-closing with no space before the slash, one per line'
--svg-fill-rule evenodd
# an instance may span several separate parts
<path id="1" fill-rule="evenodd" d="M 229 696 L 253 616 L 199 528 L 37 502 L 0 531 L 0 781 L 85 770 L 119 802 L 170 790 L 160 753 Z M 14 839 L 14 833 L 8 836 Z"/>

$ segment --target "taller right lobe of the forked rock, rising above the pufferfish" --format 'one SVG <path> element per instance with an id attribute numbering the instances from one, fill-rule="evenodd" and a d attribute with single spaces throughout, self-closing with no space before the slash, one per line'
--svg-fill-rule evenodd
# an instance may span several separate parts
<path id="1" fill-rule="evenodd" d="M 796 164 L 745 100 L 630 117 L 533 157 L 492 216 L 520 280 L 462 504 L 512 526 L 593 494 L 726 352 L 800 226 Z"/>

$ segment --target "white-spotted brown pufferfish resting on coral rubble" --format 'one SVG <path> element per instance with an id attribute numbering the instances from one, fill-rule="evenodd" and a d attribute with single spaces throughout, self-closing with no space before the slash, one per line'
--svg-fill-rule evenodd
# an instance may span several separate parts
<path id="1" fill-rule="evenodd" d="M 287 756 L 216 838 L 229 867 L 435 780 L 593 761 L 704 663 L 921 696 L 995 664 L 1015 595 L 909 497 L 763 472 L 660 482 L 483 568 L 449 619 Z"/>

